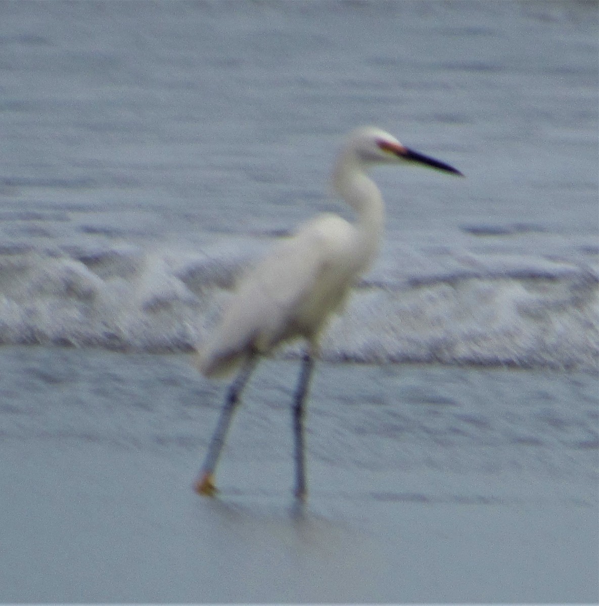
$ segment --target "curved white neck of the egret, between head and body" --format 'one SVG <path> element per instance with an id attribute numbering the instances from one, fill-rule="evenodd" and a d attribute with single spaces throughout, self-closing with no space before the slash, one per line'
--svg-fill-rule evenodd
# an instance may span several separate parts
<path id="1" fill-rule="evenodd" d="M 364 162 L 350 150 L 341 153 L 333 171 L 336 192 L 357 215 L 355 227 L 371 255 L 378 250 L 384 227 L 384 204 L 375 182 L 366 175 Z"/>

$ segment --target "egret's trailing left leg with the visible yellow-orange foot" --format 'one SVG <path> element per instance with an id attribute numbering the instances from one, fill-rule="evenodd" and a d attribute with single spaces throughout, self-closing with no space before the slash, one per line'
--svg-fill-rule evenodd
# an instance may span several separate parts
<path id="1" fill-rule="evenodd" d="M 252 374 L 256 361 L 256 355 L 253 353 L 250 354 L 227 392 L 227 399 L 225 400 L 223 410 L 221 410 L 221 416 L 216 424 L 212 439 L 210 439 L 210 445 L 208 447 L 206 459 L 204 459 L 204 465 L 202 465 L 198 481 L 195 483 L 195 490 L 199 494 L 212 496 L 216 492 L 216 486 L 214 484 L 216 463 L 218 462 L 221 450 L 223 450 L 227 430 L 229 430 L 233 413 L 239 404 L 241 392 Z"/>

